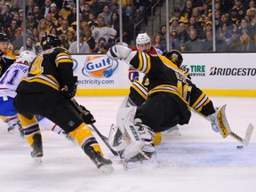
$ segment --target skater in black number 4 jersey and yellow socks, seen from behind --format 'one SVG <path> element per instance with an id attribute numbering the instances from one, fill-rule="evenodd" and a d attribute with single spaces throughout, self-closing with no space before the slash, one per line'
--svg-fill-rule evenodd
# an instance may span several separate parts
<path id="1" fill-rule="evenodd" d="M 60 44 L 57 36 L 42 38 L 44 52 L 36 56 L 28 68 L 28 76 L 21 79 L 16 90 L 14 107 L 19 113 L 25 137 L 33 148 L 31 156 L 44 155 L 35 116 L 40 115 L 68 132 L 98 168 L 103 172 L 108 171 L 112 169 L 112 162 L 103 157 L 99 143 L 70 104 L 70 99 L 76 94 L 77 77 L 73 75 L 70 53 Z"/>

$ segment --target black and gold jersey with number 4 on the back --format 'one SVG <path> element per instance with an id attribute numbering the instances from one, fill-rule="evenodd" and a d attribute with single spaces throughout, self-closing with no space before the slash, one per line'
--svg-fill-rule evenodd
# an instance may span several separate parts
<path id="1" fill-rule="evenodd" d="M 68 50 L 55 47 L 36 56 L 16 92 L 59 91 L 63 84 L 73 84 L 73 60 Z"/>

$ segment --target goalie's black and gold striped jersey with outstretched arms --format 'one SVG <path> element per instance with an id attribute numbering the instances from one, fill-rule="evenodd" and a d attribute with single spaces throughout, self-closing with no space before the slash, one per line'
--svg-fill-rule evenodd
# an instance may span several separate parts
<path id="1" fill-rule="evenodd" d="M 204 116 L 214 113 L 212 101 L 207 95 L 184 75 L 182 69 L 166 57 L 153 57 L 144 52 L 137 52 L 130 64 L 148 75 L 148 97 L 165 92 L 183 107 L 187 105 Z"/>

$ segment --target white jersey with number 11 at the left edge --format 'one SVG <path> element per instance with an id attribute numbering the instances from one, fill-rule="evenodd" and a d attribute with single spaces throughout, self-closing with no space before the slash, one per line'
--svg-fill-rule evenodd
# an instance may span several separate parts
<path id="1" fill-rule="evenodd" d="M 20 79 L 27 76 L 28 65 L 16 62 L 13 63 L 4 75 L 0 78 L 0 97 L 12 97 L 16 96 L 16 89 L 20 84 Z"/>

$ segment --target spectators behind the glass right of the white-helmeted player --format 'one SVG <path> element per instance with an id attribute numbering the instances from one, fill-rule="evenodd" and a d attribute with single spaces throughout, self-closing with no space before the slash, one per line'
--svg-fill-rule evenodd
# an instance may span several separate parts
<path id="1" fill-rule="evenodd" d="M 184 7 L 175 7 L 169 21 L 170 50 L 212 52 L 214 33 L 217 52 L 255 52 L 255 0 L 215 0 L 214 12 L 212 22 L 212 0 L 187 0 Z M 166 50 L 166 25 L 153 36 L 152 44 Z"/>

